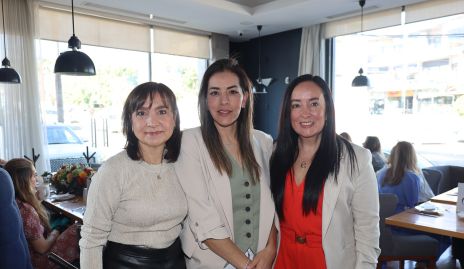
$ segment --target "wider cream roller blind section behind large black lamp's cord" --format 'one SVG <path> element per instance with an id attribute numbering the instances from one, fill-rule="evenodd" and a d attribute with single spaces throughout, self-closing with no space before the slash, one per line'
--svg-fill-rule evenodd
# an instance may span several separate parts
<path id="1" fill-rule="evenodd" d="M 74 26 L 76 36 L 86 45 L 150 51 L 150 28 L 147 25 L 74 13 Z M 41 39 L 67 42 L 71 35 L 71 12 L 39 9 Z"/>

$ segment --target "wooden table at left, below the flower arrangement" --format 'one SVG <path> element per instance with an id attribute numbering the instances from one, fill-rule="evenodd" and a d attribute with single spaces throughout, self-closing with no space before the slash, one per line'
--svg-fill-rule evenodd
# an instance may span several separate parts
<path id="1" fill-rule="evenodd" d="M 85 203 L 82 196 L 76 196 L 72 200 L 52 202 L 49 199 L 44 200 L 43 205 L 58 214 L 63 214 L 73 221 L 83 223 Z"/>

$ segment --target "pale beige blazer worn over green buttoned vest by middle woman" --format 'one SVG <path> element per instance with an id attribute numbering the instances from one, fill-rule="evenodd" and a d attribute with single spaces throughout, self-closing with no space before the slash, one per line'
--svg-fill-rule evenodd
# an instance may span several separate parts
<path id="1" fill-rule="evenodd" d="M 274 220 L 274 202 L 269 189 L 269 158 L 272 138 L 253 130 L 252 147 L 260 170 L 260 215 L 258 251 L 268 241 Z M 224 268 L 226 261 L 209 250 L 206 239 L 234 240 L 230 179 L 214 166 L 200 128 L 185 130 L 176 173 L 188 202 L 188 214 L 181 233 L 182 249 L 187 256 L 187 268 Z"/>

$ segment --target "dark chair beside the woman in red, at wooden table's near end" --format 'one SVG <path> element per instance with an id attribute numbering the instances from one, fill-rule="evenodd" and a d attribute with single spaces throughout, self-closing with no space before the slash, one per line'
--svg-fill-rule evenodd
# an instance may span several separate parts
<path id="1" fill-rule="evenodd" d="M 377 269 L 387 261 L 400 261 L 400 269 L 405 260 L 427 261 L 427 268 L 435 269 L 438 241 L 427 235 L 396 235 L 385 225 L 385 218 L 395 213 L 398 197 L 394 194 L 379 194 L 380 203 L 380 257 Z"/>

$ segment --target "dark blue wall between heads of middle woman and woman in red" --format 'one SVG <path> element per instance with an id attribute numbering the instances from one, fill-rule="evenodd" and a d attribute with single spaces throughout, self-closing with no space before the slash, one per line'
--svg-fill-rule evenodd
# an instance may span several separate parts
<path id="1" fill-rule="evenodd" d="M 301 29 L 261 37 L 261 77 L 274 80 L 267 94 L 255 94 L 254 125 L 272 137 L 277 137 L 277 126 L 283 93 L 290 80 L 298 75 Z M 230 43 L 230 55 L 239 60 L 253 83 L 258 78 L 259 40 Z"/>

